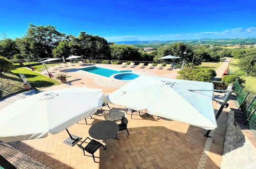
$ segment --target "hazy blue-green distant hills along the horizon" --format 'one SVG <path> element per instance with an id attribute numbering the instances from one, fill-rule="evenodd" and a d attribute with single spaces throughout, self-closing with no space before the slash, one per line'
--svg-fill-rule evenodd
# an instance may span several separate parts
<path id="1" fill-rule="evenodd" d="M 181 41 L 189 45 L 209 44 L 209 45 L 254 45 L 256 38 L 218 38 L 218 39 L 191 39 L 191 40 L 145 40 L 145 41 L 119 41 L 116 44 L 127 44 L 136 47 L 159 47 L 170 45 Z"/>

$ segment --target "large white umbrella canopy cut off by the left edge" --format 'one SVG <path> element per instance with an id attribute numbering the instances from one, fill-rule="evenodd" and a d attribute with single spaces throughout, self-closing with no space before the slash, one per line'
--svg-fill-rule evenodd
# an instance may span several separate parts
<path id="1" fill-rule="evenodd" d="M 0 140 L 44 138 L 59 133 L 102 107 L 99 89 L 70 88 L 46 91 L 18 100 L 0 110 Z"/>

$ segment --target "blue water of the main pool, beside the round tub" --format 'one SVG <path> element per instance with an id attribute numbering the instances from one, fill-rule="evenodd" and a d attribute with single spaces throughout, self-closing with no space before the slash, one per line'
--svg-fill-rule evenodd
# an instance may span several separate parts
<path id="1" fill-rule="evenodd" d="M 122 73 L 122 72 L 131 72 L 129 70 L 127 71 L 116 71 L 116 70 L 112 70 L 112 69 L 106 69 L 106 68 L 101 68 L 101 67 L 89 67 L 89 68 L 82 68 L 81 70 L 86 71 L 86 72 L 90 72 L 90 73 L 94 73 L 97 75 L 102 75 L 102 76 L 106 76 L 106 77 L 110 77 L 113 74 L 116 73 Z"/>

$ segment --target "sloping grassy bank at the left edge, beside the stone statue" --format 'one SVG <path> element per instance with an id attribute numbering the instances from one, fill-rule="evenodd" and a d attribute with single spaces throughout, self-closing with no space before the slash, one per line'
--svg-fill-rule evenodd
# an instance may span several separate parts
<path id="1" fill-rule="evenodd" d="M 23 81 L 13 73 L 0 74 L 0 98 L 24 90 Z"/>

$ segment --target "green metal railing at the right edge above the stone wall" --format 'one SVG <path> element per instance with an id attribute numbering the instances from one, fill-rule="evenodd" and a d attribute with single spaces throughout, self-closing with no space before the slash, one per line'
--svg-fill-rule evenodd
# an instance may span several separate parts
<path id="1" fill-rule="evenodd" d="M 246 114 L 245 124 L 248 124 L 249 129 L 256 130 L 256 95 L 246 92 L 238 81 L 234 83 L 234 93 L 237 95 L 239 109 Z"/>

